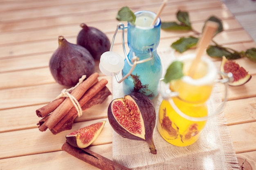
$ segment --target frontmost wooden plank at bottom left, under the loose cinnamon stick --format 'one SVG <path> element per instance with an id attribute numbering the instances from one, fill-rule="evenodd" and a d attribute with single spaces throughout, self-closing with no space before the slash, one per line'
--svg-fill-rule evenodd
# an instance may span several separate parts
<path id="1" fill-rule="evenodd" d="M 90 150 L 112 160 L 112 144 L 90 146 Z M 31 160 L 33 160 L 34 163 L 31 163 Z M 17 165 L 19 165 L 19 170 L 35 170 L 38 168 L 43 170 L 49 169 L 49 167 L 52 167 L 55 170 L 74 169 L 74 167 L 81 170 L 98 170 L 98 168 L 95 168 L 94 166 L 91 166 L 90 164 L 85 163 L 63 151 L 0 159 L 0 167 L 17 169 Z"/>

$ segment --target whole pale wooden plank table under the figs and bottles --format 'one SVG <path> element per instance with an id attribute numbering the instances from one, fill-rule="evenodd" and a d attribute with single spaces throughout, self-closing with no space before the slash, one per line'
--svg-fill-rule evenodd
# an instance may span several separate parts
<path id="1" fill-rule="evenodd" d="M 0 169 L 97 169 L 61 150 L 65 135 L 75 129 L 107 119 L 112 96 L 101 105 L 85 110 L 72 130 L 57 135 L 40 132 L 40 118 L 35 110 L 52 101 L 63 89 L 50 71 L 49 59 L 63 35 L 76 43 L 85 22 L 106 33 L 110 40 L 118 21 L 118 9 L 158 11 L 159 0 L 0 0 Z M 223 22 L 216 42 L 238 51 L 256 47 L 256 43 L 220 0 L 169 0 L 161 19 L 174 21 L 177 10 L 190 14 L 193 27 L 200 31 L 203 22 L 215 15 Z M 161 31 L 158 50 L 169 50 L 170 44 L 193 32 Z M 117 36 L 115 51 L 121 52 Z M 224 113 L 238 160 L 256 168 L 256 63 L 246 58 L 236 60 L 247 69 L 252 79 L 243 86 L 229 88 L 229 101 Z M 220 61 L 215 61 L 220 65 Z M 97 64 L 98 65 L 98 64 Z M 98 66 L 96 71 L 100 73 Z M 112 91 L 112 79 L 108 88 Z M 112 159 L 112 128 L 107 122 L 90 150 Z M 249 166 L 247 166 L 249 167 Z"/>

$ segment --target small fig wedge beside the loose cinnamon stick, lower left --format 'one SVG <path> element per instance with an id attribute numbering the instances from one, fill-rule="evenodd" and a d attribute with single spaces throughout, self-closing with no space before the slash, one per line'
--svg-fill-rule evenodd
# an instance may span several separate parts
<path id="1" fill-rule="evenodd" d="M 66 141 L 74 147 L 86 148 L 97 139 L 105 123 L 106 121 L 100 121 L 75 130 L 66 135 Z"/>

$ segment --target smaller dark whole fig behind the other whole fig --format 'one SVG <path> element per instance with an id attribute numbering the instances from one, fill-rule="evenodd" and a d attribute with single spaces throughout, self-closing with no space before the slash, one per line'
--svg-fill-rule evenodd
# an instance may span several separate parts
<path id="1" fill-rule="evenodd" d="M 105 33 L 97 28 L 80 24 L 81 31 L 77 35 L 76 44 L 88 49 L 95 60 L 100 60 L 101 54 L 110 50 L 110 41 Z"/>

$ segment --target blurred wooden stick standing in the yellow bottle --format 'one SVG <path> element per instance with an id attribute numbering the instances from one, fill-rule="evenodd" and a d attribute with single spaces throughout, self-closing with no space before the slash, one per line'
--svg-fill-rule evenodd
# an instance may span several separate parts
<path id="1" fill-rule="evenodd" d="M 191 67 L 189 69 L 189 76 L 193 78 L 197 64 L 200 62 L 200 59 L 209 46 L 211 39 L 213 38 L 214 33 L 218 29 L 218 23 L 213 21 L 207 21 L 204 26 L 204 31 L 202 33 L 202 37 L 198 40 L 198 47 L 196 49 L 195 59 L 193 60 Z"/>

